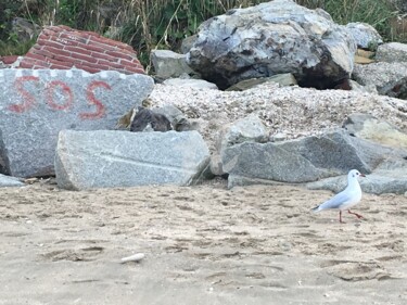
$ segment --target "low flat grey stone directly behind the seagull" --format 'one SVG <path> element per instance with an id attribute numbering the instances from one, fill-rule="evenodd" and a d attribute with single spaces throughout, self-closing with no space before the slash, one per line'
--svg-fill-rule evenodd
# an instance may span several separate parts
<path id="1" fill-rule="evenodd" d="M 360 188 L 366 193 L 404 194 L 407 191 L 407 167 L 393 170 L 374 170 L 366 178 L 360 179 Z M 307 183 L 310 190 L 330 190 L 340 192 L 346 187 L 346 177 L 332 177 Z"/>

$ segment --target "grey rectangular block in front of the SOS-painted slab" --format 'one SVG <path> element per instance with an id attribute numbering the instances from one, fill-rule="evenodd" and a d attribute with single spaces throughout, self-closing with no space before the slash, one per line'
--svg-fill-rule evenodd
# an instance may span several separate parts
<path id="1" fill-rule="evenodd" d="M 201 135 L 186 132 L 60 132 L 55 171 L 61 188 L 189 186 L 207 166 Z"/>

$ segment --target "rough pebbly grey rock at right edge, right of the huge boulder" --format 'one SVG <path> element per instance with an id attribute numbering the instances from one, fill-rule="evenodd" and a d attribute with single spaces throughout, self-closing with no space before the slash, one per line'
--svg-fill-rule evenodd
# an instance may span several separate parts
<path id="1" fill-rule="evenodd" d="M 407 98 L 407 62 L 356 64 L 352 77 L 363 86 L 374 86 L 379 94 Z"/>

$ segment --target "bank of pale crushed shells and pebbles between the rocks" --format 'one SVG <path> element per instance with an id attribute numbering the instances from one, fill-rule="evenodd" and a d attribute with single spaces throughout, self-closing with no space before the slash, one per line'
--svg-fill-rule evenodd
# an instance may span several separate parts
<path id="1" fill-rule="evenodd" d="M 151 106 L 170 104 L 189 119 L 199 119 L 199 131 L 212 152 L 220 129 L 247 114 L 257 115 L 271 137 L 284 139 L 321 135 L 341 127 L 353 113 L 369 113 L 407 132 L 406 101 L 354 91 L 280 87 L 275 82 L 228 92 L 155 85 L 150 101 Z"/>

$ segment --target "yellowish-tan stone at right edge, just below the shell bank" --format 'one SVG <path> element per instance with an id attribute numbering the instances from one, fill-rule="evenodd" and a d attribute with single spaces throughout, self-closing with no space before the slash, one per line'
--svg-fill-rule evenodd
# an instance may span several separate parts
<path id="1" fill-rule="evenodd" d="M 379 120 L 370 114 L 355 113 L 344 122 L 351 135 L 370 140 L 382 145 L 407 150 L 407 135 L 384 120 Z"/>

